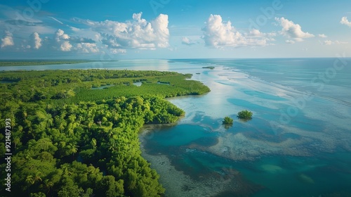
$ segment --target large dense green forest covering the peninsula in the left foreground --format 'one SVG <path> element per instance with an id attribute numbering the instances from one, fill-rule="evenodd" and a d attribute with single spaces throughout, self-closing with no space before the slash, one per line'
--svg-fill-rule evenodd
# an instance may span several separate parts
<path id="1" fill-rule="evenodd" d="M 162 196 L 142 156 L 144 124 L 171 123 L 184 111 L 167 96 L 208 87 L 176 72 L 44 70 L 0 72 L 0 129 L 11 119 L 11 193 L 20 196 Z M 143 82 L 140 87 L 133 82 Z M 168 82 L 169 85 L 157 84 Z M 107 89 L 91 89 L 114 84 Z M 0 154 L 6 153 L 0 134 Z M 0 168 L 6 169 L 6 160 Z M 1 177 L 6 177 L 1 170 Z"/>

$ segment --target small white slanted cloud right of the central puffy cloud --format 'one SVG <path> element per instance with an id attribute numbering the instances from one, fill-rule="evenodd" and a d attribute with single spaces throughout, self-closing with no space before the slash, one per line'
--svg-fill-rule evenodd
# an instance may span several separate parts
<path id="1" fill-rule="evenodd" d="M 293 23 L 291 20 L 287 20 L 284 17 L 275 18 L 275 20 L 283 27 L 280 33 L 289 39 L 293 39 L 296 42 L 303 42 L 305 38 L 314 37 L 314 34 L 303 32 L 301 26 Z"/>

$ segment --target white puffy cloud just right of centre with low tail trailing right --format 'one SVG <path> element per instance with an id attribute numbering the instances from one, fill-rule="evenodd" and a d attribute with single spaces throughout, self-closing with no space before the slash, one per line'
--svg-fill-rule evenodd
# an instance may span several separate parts
<path id="1" fill-rule="evenodd" d="M 206 26 L 202 28 L 206 46 L 239 47 L 239 46 L 265 46 L 267 40 L 258 30 L 253 31 L 253 34 L 241 34 L 232 26 L 230 21 L 223 22 L 220 15 L 210 15 L 206 21 Z"/>

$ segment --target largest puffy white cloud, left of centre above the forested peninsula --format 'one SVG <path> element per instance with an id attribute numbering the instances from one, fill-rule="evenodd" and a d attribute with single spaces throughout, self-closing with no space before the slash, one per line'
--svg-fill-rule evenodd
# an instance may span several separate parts
<path id="1" fill-rule="evenodd" d="M 143 13 L 134 13 L 133 20 L 121 23 L 113 20 L 101 22 L 79 20 L 98 32 L 101 42 L 110 48 L 155 49 L 168 47 L 168 15 L 160 14 L 147 22 Z"/>

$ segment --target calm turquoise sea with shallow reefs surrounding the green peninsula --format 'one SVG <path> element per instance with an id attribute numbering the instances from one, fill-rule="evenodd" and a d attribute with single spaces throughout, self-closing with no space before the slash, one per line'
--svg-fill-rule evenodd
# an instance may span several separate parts
<path id="1" fill-rule="evenodd" d="M 164 156 L 197 186 L 211 188 L 204 180 L 214 178 L 230 183 L 204 196 L 351 196 L 351 58 L 121 60 L 0 70 L 71 68 L 192 73 L 210 87 L 201 96 L 167 98 L 185 117 L 140 134 L 148 160 Z M 244 109 L 252 120 L 237 119 Z M 225 116 L 234 123 L 222 125 Z M 165 166 L 154 167 L 166 196 L 180 196 Z M 182 189 L 196 190 L 186 183 Z"/>

